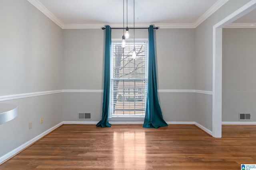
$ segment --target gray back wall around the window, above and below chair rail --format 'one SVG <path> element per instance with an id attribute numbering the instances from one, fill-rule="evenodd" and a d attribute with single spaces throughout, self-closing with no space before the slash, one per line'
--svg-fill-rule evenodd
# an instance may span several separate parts
<path id="1" fill-rule="evenodd" d="M 159 29 L 156 31 L 158 89 L 195 89 L 195 29 Z M 148 30 L 136 30 L 136 38 L 148 38 Z M 122 30 L 112 30 L 112 39 L 120 39 Z M 133 37 L 133 34 L 130 35 Z M 63 31 L 64 89 L 102 90 L 104 31 L 101 29 L 65 29 Z M 195 121 L 194 94 L 160 93 L 160 105 L 166 121 Z M 99 121 L 102 93 L 63 94 L 64 121 L 78 121 L 77 113 L 90 111 L 91 121 Z"/>

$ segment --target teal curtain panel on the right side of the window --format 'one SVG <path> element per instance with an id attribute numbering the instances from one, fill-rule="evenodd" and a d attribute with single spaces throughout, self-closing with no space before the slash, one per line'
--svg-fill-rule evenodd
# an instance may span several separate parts
<path id="1" fill-rule="evenodd" d="M 168 126 L 162 116 L 157 96 L 156 59 L 154 48 L 154 27 L 148 28 L 148 94 L 143 127 L 158 128 Z"/>

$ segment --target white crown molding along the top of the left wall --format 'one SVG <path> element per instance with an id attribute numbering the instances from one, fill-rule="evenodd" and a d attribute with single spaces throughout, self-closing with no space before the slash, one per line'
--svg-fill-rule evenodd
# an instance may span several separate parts
<path id="1" fill-rule="evenodd" d="M 63 23 L 60 21 L 52 12 L 50 12 L 41 2 L 38 0 L 27 0 L 32 5 L 34 5 L 38 10 L 40 10 L 45 16 L 50 18 L 54 23 L 56 23 L 59 27 L 63 28 Z"/>

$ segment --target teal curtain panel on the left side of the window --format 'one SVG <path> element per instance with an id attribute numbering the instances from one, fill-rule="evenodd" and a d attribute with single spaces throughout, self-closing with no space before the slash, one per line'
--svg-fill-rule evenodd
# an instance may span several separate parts
<path id="1" fill-rule="evenodd" d="M 105 29 L 105 62 L 104 62 L 104 89 L 103 89 L 103 104 L 102 104 L 102 118 L 97 127 L 110 127 L 108 123 L 109 110 L 109 94 L 110 94 L 110 54 L 111 54 L 111 28 L 106 25 Z"/>

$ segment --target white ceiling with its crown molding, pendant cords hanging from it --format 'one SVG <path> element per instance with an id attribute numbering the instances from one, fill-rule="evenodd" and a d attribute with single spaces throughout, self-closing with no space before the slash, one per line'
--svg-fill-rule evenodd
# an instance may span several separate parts
<path id="1" fill-rule="evenodd" d="M 122 0 L 28 0 L 62 28 L 122 25 Z M 126 0 L 125 23 L 126 23 Z M 135 23 L 196 27 L 228 0 L 135 0 Z M 128 0 L 128 25 L 133 0 Z M 160 27 L 161 27 L 160 26 Z"/>

